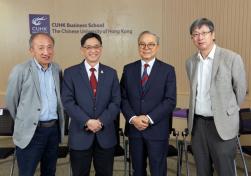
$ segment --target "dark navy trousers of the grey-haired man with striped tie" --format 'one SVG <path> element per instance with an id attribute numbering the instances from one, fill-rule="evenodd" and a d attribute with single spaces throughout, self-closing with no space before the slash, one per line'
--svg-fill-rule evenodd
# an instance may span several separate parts
<path id="1" fill-rule="evenodd" d="M 151 176 L 167 175 L 168 140 L 146 140 L 129 138 L 129 150 L 132 158 L 133 176 L 147 176 L 147 157 Z"/>

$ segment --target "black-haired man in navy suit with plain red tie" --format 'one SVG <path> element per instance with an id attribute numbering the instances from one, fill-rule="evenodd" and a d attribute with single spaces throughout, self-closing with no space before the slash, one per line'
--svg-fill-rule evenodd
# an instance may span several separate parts
<path id="1" fill-rule="evenodd" d="M 84 61 L 65 70 L 64 108 L 71 117 L 70 160 L 73 176 L 89 176 L 93 159 L 96 176 L 112 176 L 120 110 L 120 87 L 114 69 L 99 62 L 102 40 L 87 33 L 81 39 Z"/>

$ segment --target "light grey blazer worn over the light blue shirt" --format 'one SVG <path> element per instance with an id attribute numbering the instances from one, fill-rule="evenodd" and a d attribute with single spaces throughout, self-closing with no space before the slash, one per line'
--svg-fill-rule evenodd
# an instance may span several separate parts
<path id="1" fill-rule="evenodd" d="M 52 63 L 52 75 L 57 94 L 57 112 L 61 131 L 64 135 L 64 114 L 60 98 L 60 69 Z M 6 106 L 15 121 L 13 141 L 25 148 L 31 141 L 39 121 L 41 94 L 36 64 L 33 59 L 16 65 L 11 71 L 6 92 Z"/>

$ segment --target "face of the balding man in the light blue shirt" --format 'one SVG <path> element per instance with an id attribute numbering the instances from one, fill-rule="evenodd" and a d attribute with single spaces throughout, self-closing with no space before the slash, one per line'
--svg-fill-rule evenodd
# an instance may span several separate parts
<path id="1" fill-rule="evenodd" d="M 30 53 L 42 67 L 47 68 L 54 56 L 53 41 L 46 35 L 36 36 L 32 41 Z"/>

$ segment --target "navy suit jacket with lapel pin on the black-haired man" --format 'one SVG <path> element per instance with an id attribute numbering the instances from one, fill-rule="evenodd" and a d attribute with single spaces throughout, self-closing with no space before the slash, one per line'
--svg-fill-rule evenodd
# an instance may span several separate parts
<path id="1" fill-rule="evenodd" d="M 114 69 L 99 64 L 96 100 L 84 62 L 64 71 L 62 101 L 71 118 L 69 146 L 74 150 L 86 150 L 93 143 L 95 134 L 86 131 L 84 125 L 90 118 L 99 118 L 103 123 L 96 133 L 98 143 L 103 148 L 116 145 L 114 122 L 120 110 L 120 88 Z"/>

